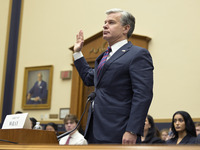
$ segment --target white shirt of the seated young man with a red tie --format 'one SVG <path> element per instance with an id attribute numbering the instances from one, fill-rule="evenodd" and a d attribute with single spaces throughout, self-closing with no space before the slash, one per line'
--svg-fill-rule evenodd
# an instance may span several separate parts
<path id="1" fill-rule="evenodd" d="M 60 141 L 59 141 L 59 144 L 65 145 L 68 137 L 69 137 L 69 135 L 61 138 Z M 71 135 L 71 138 L 69 140 L 69 145 L 87 145 L 87 144 L 88 144 L 87 140 L 78 131 L 75 131 L 74 134 Z"/>

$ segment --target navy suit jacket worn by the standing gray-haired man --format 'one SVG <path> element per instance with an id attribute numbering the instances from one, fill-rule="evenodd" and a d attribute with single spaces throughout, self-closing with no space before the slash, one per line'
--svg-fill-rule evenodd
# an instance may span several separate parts
<path id="1" fill-rule="evenodd" d="M 97 140 L 121 143 L 125 131 L 143 134 L 145 118 L 152 100 L 153 64 L 148 50 L 132 45 L 122 46 L 105 63 L 97 79 L 96 69 L 84 58 L 74 62 L 83 82 L 95 86 L 93 133 Z M 91 116 L 88 115 L 86 134 Z"/>

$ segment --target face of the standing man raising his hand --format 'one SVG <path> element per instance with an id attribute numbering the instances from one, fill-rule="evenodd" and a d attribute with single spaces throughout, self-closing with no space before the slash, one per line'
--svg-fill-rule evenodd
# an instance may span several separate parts
<path id="1" fill-rule="evenodd" d="M 126 39 L 127 26 L 122 26 L 120 19 L 121 13 L 111 13 L 107 15 L 103 26 L 103 38 L 108 41 L 109 44 L 115 44 L 116 42 Z"/>

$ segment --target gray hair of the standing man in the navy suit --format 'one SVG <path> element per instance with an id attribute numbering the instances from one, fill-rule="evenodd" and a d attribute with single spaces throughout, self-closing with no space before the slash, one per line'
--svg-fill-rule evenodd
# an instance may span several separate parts
<path id="1" fill-rule="evenodd" d="M 135 29 L 135 17 L 131 13 L 121 10 L 121 9 L 118 9 L 118 8 L 113 8 L 113 9 L 106 11 L 107 15 L 112 14 L 112 13 L 121 13 L 122 14 L 122 17 L 121 17 L 121 25 L 122 26 L 130 25 L 130 30 L 128 31 L 128 34 L 127 34 L 127 37 L 129 38 Z"/>

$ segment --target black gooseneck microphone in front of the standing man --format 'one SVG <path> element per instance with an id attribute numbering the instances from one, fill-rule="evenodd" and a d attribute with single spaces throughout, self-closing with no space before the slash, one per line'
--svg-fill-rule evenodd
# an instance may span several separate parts
<path id="1" fill-rule="evenodd" d="M 60 139 L 61 139 L 62 137 L 64 137 L 64 136 L 69 135 L 70 133 L 74 132 L 74 131 L 78 128 L 78 126 L 79 126 L 79 124 L 80 124 L 80 122 L 81 122 L 81 120 L 82 120 L 82 118 L 83 118 L 83 115 L 85 114 L 85 111 L 86 111 L 88 102 L 91 102 L 92 100 L 94 100 L 95 97 L 96 97 L 96 93 L 95 93 L 95 92 L 90 93 L 90 95 L 88 96 L 87 102 L 86 102 L 86 104 L 85 104 L 85 109 L 84 109 L 84 111 L 83 111 L 83 113 L 82 113 L 82 115 L 81 115 L 81 118 L 80 118 L 80 120 L 78 121 L 76 127 L 75 127 L 73 130 L 71 130 L 71 131 L 68 131 L 68 132 L 65 132 L 65 133 L 63 133 L 63 134 L 61 134 L 61 135 L 58 135 L 58 136 L 57 136 L 57 139 L 58 139 L 58 140 L 60 140 Z"/>

